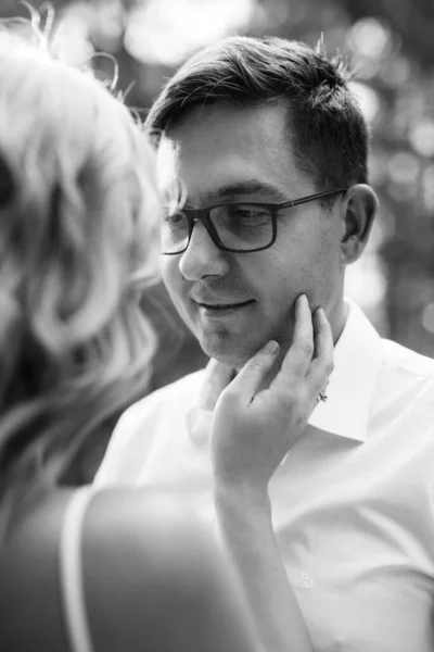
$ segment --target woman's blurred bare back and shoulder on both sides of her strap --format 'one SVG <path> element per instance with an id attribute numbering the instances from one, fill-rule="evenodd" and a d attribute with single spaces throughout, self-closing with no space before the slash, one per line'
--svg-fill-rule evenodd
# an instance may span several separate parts
<path id="1" fill-rule="evenodd" d="M 0 560 L 0 649 L 253 650 L 218 551 L 188 510 L 148 491 L 90 491 L 49 493 L 15 524 Z"/>

